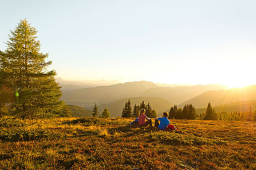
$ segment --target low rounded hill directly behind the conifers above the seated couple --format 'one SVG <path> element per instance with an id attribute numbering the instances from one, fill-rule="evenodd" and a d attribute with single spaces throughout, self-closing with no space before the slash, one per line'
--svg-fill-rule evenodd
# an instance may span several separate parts
<path id="1" fill-rule="evenodd" d="M 104 104 L 100 105 L 99 111 L 100 113 L 103 111 L 105 107 L 107 107 L 110 111 L 111 117 L 121 117 L 123 107 L 125 103 L 130 99 L 132 107 L 134 107 L 134 104 L 140 105 L 142 101 L 144 101 L 145 104 L 150 102 L 150 105 L 153 109 L 156 110 L 158 115 L 161 115 L 163 111 L 169 110 L 172 106 L 171 103 L 169 103 L 167 100 L 159 98 L 159 97 L 138 97 L 138 98 L 125 98 L 121 99 L 115 103 L 111 104 Z"/>

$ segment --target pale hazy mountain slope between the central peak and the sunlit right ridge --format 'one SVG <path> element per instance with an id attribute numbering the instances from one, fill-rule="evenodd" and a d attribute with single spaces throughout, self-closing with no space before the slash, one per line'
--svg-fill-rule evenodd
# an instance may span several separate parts
<path id="1" fill-rule="evenodd" d="M 225 86 L 214 85 L 196 85 L 196 86 L 180 86 L 180 87 L 157 87 L 146 90 L 142 96 L 158 96 L 166 99 L 171 103 L 180 104 L 189 99 L 195 98 L 197 95 L 209 90 L 223 90 Z"/>

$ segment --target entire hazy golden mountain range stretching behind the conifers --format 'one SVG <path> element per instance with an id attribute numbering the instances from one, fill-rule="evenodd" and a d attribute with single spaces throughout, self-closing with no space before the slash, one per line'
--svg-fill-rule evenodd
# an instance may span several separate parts
<path id="1" fill-rule="evenodd" d="M 168 111 L 174 104 L 183 107 L 190 103 L 198 108 L 199 113 L 207 107 L 208 102 L 218 108 L 218 111 L 236 110 L 247 106 L 248 102 L 243 104 L 242 101 L 256 100 L 256 85 L 232 89 L 218 84 L 160 87 L 152 82 L 139 81 L 63 91 L 62 95 L 62 100 L 67 104 L 82 106 L 89 110 L 92 110 L 95 103 L 100 112 L 104 107 L 108 107 L 113 117 L 121 116 L 122 108 L 129 98 L 132 105 L 139 105 L 142 101 L 150 102 L 158 114 Z"/>

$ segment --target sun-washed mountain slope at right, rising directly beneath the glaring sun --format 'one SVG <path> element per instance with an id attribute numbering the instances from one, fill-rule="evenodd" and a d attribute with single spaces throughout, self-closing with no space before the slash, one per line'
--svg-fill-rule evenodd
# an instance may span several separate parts
<path id="1" fill-rule="evenodd" d="M 232 88 L 229 90 L 207 91 L 179 106 L 182 107 L 185 104 L 191 103 L 196 108 L 205 108 L 208 102 L 210 102 L 212 106 L 217 106 L 250 100 L 256 100 L 256 85 L 246 86 L 244 88 Z"/>

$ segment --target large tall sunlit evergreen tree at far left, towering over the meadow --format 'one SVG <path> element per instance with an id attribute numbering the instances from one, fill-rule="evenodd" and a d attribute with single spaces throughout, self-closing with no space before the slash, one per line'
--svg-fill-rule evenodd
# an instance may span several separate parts
<path id="1" fill-rule="evenodd" d="M 26 19 L 11 31 L 7 50 L 0 54 L 0 77 L 5 78 L 0 91 L 7 94 L 0 98 L 10 96 L 12 100 L 6 100 L 4 106 L 11 106 L 19 117 L 69 116 L 68 107 L 59 100 L 61 87 L 55 82 L 56 72 L 47 71 L 52 62 L 45 61 L 48 54 L 39 52 L 36 33 Z"/>

